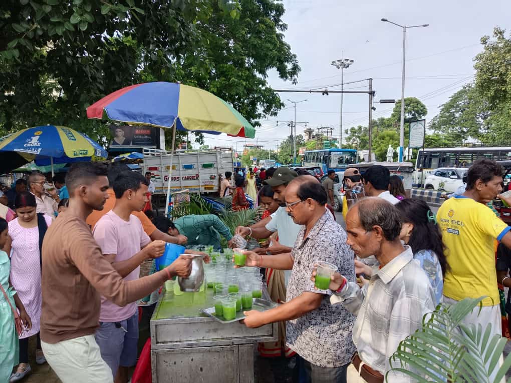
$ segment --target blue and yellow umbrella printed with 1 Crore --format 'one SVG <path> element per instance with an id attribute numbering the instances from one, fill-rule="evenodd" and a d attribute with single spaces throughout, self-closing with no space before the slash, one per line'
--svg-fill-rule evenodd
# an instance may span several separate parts
<path id="1" fill-rule="evenodd" d="M 107 155 L 96 141 L 63 126 L 36 126 L 0 138 L 0 172 L 33 160 L 36 165 L 45 166 L 104 159 Z"/>

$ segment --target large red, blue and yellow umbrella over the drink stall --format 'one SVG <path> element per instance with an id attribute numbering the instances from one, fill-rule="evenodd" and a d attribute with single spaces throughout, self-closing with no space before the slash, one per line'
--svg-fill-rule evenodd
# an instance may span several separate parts
<path id="1" fill-rule="evenodd" d="M 87 108 L 88 118 L 159 128 L 255 137 L 254 127 L 231 105 L 208 91 L 150 82 L 110 93 Z"/>

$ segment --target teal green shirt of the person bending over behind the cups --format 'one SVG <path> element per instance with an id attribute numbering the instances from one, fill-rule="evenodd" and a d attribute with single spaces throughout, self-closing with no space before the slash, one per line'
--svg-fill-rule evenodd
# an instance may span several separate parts
<path id="1" fill-rule="evenodd" d="M 184 216 L 173 221 L 179 233 L 188 237 L 188 245 L 214 245 L 220 249 L 220 236 L 227 241 L 233 237 L 225 224 L 215 214 Z"/>

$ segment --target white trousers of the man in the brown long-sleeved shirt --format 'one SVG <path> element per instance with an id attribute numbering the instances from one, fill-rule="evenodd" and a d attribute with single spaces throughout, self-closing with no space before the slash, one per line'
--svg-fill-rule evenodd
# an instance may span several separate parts
<path id="1" fill-rule="evenodd" d="M 113 383 L 112 371 L 101 358 L 94 335 L 55 344 L 41 341 L 41 346 L 62 383 Z"/>

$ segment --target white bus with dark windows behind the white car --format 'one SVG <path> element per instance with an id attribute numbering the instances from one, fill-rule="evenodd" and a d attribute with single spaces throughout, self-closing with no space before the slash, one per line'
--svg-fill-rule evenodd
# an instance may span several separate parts
<path id="1" fill-rule="evenodd" d="M 438 167 L 470 167 L 478 159 L 511 159 L 511 147 L 464 147 L 420 149 L 415 162 L 413 183 L 422 187 L 424 180 Z"/>

